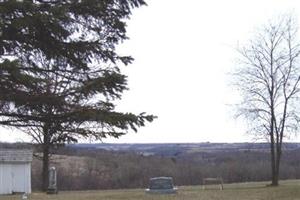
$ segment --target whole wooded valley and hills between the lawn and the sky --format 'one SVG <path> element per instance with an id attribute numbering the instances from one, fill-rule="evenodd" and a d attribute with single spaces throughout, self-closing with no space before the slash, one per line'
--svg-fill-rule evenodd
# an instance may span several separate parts
<path id="1" fill-rule="evenodd" d="M 0 144 L 0 148 L 33 148 Z M 60 190 L 145 188 L 149 178 L 171 176 L 177 185 L 199 185 L 203 178 L 225 183 L 270 180 L 267 143 L 71 144 L 51 150 Z M 32 188 L 40 189 L 41 160 L 32 163 Z M 280 179 L 300 179 L 300 144 L 285 144 Z"/>

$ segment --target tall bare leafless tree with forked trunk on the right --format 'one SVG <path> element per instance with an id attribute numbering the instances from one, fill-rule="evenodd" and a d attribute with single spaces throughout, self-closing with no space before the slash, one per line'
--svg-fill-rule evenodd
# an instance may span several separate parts
<path id="1" fill-rule="evenodd" d="M 241 65 L 234 73 L 242 94 L 238 115 L 250 133 L 270 142 L 272 184 L 278 185 L 284 138 L 296 133 L 300 94 L 300 43 L 291 16 L 270 22 L 249 44 L 238 48 Z"/>

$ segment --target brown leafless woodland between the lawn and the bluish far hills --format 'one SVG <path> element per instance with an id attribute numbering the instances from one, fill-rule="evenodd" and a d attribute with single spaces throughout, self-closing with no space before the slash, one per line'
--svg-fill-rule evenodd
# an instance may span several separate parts
<path id="1" fill-rule="evenodd" d="M 149 178 L 171 176 L 176 185 L 197 185 L 206 177 L 224 182 L 270 180 L 267 151 L 186 151 L 171 156 L 95 148 L 60 147 L 53 151 L 51 166 L 58 170 L 60 190 L 145 188 Z M 41 185 L 41 162 L 32 164 L 32 186 Z M 281 179 L 300 178 L 300 149 L 285 150 Z"/>

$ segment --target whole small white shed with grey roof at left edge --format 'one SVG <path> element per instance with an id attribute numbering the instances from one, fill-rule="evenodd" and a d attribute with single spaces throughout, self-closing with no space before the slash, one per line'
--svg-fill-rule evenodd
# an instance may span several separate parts
<path id="1" fill-rule="evenodd" d="M 31 193 L 32 151 L 0 149 L 0 195 Z"/>

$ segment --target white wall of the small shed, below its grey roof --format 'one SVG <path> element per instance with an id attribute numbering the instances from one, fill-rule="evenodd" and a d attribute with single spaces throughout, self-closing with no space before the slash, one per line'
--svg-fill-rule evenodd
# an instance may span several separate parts
<path id="1" fill-rule="evenodd" d="M 0 194 L 31 193 L 30 163 L 0 163 Z"/>

